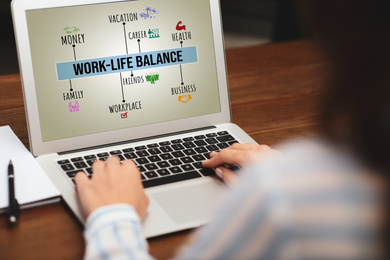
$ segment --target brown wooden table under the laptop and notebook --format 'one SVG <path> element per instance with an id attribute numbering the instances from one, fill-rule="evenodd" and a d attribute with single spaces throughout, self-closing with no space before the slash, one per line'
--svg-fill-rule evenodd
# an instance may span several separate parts
<path id="1" fill-rule="evenodd" d="M 233 122 L 258 143 L 315 135 L 329 62 L 311 41 L 226 51 Z M 28 148 L 19 75 L 0 76 L 0 125 Z M 1 145 L 1 144 L 0 144 Z M 172 257 L 191 230 L 149 239 L 151 254 Z M 23 210 L 16 226 L 0 215 L 0 259 L 81 259 L 83 227 L 64 203 Z"/>

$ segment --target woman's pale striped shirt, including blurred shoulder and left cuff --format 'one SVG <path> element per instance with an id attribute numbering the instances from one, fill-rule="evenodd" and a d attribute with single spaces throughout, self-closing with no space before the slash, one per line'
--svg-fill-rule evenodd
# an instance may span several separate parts
<path id="1" fill-rule="evenodd" d="M 240 173 L 177 259 L 380 258 L 380 181 L 319 141 L 279 150 Z M 141 228 L 131 206 L 96 210 L 86 223 L 85 259 L 152 259 Z"/>

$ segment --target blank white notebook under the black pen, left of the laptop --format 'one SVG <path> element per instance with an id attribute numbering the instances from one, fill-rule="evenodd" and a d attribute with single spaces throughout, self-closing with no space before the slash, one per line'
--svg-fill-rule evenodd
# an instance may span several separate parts
<path id="1" fill-rule="evenodd" d="M 0 212 L 8 208 L 8 163 L 15 174 L 15 196 L 21 208 L 59 201 L 60 193 L 9 126 L 0 127 Z"/>

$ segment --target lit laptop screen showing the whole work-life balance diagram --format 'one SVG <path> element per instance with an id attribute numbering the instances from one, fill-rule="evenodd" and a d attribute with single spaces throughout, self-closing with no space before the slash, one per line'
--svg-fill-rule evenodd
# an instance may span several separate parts
<path id="1" fill-rule="evenodd" d="M 26 17 L 43 142 L 221 111 L 208 0 Z"/>

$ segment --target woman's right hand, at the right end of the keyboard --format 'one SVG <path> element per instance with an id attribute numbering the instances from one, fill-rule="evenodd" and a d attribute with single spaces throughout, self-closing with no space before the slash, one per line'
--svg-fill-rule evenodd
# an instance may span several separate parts
<path id="1" fill-rule="evenodd" d="M 246 167 L 260 161 L 265 156 L 279 153 L 268 145 L 239 144 L 222 149 L 217 153 L 211 153 L 210 159 L 203 162 L 205 168 L 216 168 L 215 173 L 228 185 L 237 180 L 237 174 L 224 166 L 224 164 Z"/>

